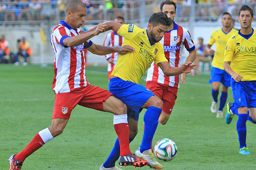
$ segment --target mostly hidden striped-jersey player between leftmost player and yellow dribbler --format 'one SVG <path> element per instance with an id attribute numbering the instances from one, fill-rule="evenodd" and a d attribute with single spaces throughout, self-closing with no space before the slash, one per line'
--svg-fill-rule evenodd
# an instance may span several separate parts
<path id="1" fill-rule="evenodd" d="M 124 18 L 121 16 L 117 16 L 114 22 L 119 24 L 124 24 Z M 107 37 L 104 40 L 103 45 L 110 46 L 110 47 L 120 47 L 124 37 L 119 36 L 115 31 L 112 31 L 107 34 Z M 112 73 L 113 69 L 115 68 L 118 53 L 112 53 L 105 55 L 106 59 L 108 60 L 108 80 L 110 79 L 110 74 Z"/>

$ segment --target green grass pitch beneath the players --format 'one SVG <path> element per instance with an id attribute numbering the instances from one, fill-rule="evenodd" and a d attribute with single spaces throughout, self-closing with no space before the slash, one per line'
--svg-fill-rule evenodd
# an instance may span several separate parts
<path id="1" fill-rule="evenodd" d="M 107 69 L 87 67 L 92 85 L 108 89 Z M 53 67 L 0 65 L 0 170 L 8 170 L 7 159 L 20 152 L 40 130 L 51 124 L 54 105 Z M 169 122 L 159 125 L 153 143 L 170 138 L 178 152 L 172 161 L 160 161 L 163 170 L 255 170 L 256 130 L 247 122 L 247 145 L 251 154 L 239 155 L 234 117 L 230 125 L 210 112 L 209 76 L 188 76 L 180 85 Z M 145 85 L 143 80 L 141 85 Z M 233 101 L 229 89 L 228 101 Z M 224 108 L 224 115 L 226 108 Z M 143 115 L 139 132 L 130 144 L 134 152 L 143 136 Z M 116 133 L 113 115 L 77 106 L 64 133 L 49 141 L 23 164 L 22 170 L 99 170 L 110 153 Z M 123 168 L 132 170 L 134 167 Z M 143 167 L 146 170 L 149 167 Z"/>

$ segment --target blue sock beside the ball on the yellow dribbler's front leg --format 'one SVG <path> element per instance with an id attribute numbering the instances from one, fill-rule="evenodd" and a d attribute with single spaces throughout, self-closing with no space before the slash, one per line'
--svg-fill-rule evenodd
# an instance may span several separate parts
<path id="1" fill-rule="evenodd" d="M 140 152 L 151 149 L 151 140 L 153 139 L 154 133 L 157 130 L 158 119 L 162 112 L 162 109 L 150 106 L 144 115 L 144 133 L 143 139 L 140 145 Z"/>

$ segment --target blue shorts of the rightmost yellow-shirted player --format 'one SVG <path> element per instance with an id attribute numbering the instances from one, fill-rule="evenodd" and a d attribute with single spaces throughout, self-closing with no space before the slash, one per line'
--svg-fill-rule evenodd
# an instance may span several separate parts
<path id="1" fill-rule="evenodd" d="M 236 82 L 231 79 L 235 108 L 256 108 L 256 81 Z"/>

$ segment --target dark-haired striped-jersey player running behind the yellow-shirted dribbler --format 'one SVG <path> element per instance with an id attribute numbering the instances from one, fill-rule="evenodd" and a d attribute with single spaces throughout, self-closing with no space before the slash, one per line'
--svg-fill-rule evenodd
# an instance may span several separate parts
<path id="1" fill-rule="evenodd" d="M 176 14 L 176 3 L 166 0 L 160 4 L 160 11 L 173 20 Z M 186 62 L 194 61 L 196 55 L 195 45 L 186 28 L 173 22 L 170 31 L 164 34 L 160 42 L 163 44 L 165 57 L 168 59 L 171 66 L 180 66 L 180 58 L 184 47 L 189 51 Z M 185 80 L 186 74 L 181 74 L 181 83 L 184 84 Z M 150 89 L 163 100 L 163 111 L 159 117 L 159 122 L 163 125 L 168 121 L 173 106 L 175 105 L 177 91 L 180 87 L 179 82 L 179 75 L 168 77 L 164 75 L 161 68 L 154 63 L 152 63 L 151 67 L 148 69 L 146 88 Z"/>

